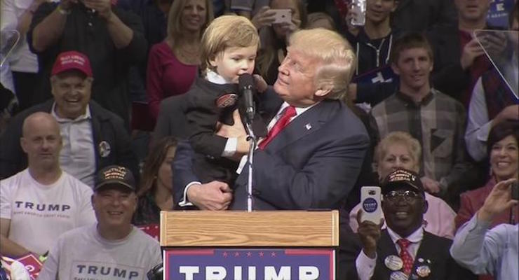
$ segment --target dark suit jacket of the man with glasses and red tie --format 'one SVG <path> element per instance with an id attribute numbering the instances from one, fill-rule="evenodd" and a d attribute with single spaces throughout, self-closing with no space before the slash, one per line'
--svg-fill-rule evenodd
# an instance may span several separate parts
<path id="1" fill-rule="evenodd" d="M 409 279 L 438 279 L 438 280 L 470 280 L 476 279 L 476 276 L 462 267 L 450 256 L 449 249 L 452 240 L 438 237 L 429 232 L 424 231 L 424 239 L 418 248 L 417 255 L 414 258 L 414 265 L 411 270 Z M 337 280 L 358 279 L 355 260 L 362 249 L 358 235 L 345 236 L 341 235 L 339 244 L 339 253 L 337 260 Z M 384 265 L 384 260 L 389 255 L 398 255 L 396 246 L 389 237 L 387 230 L 382 231 L 382 235 L 377 244 L 377 265 L 371 279 L 382 280 L 389 279 L 393 270 Z M 419 260 L 423 260 L 419 262 Z M 431 263 L 428 265 L 427 260 Z M 431 274 L 427 277 L 417 275 L 417 267 L 428 265 Z"/>

